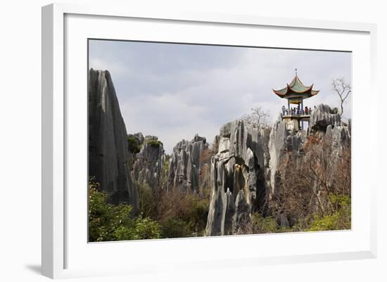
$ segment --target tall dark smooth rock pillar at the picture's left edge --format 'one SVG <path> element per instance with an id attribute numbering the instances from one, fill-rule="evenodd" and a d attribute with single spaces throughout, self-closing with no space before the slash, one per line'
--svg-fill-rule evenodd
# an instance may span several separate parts
<path id="1" fill-rule="evenodd" d="M 127 132 L 110 73 L 89 70 L 89 177 L 96 177 L 112 203 L 138 208 L 129 173 Z"/>

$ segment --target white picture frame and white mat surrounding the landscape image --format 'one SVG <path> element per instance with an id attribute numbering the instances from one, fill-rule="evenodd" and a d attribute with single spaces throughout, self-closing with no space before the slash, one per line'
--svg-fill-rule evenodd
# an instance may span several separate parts
<path id="1" fill-rule="evenodd" d="M 75 219 L 74 212 L 78 214 L 82 214 L 82 212 L 86 213 L 84 206 L 87 205 L 87 202 L 82 197 L 87 195 L 87 188 L 86 182 L 83 182 L 84 194 L 81 198 L 74 198 L 76 193 L 68 191 L 70 189 L 69 184 L 72 184 L 72 179 L 74 179 L 68 178 L 68 173 L 72 169 L 68 165 L 74 160 L 71 154 L 82 155 L 82 158 L 86 158 L 84 155 L 86 147 L 82 147 L 83 149 L 81 148 L 81 150 L 75 152 L 77 149 L 74 149 L 72 136 L 75 136 L 77 130 L 80 130 L 80 138 L 82 139 L 84 137 L 82 130 L 86 129 L 82 129 L 84 125 L 82 119 L 84 121 L 83 114 L 86 113 L 87 108 L 84 107 L 84 100 L 82 98 L 80 98 L 80 101 L 75 101 L 71 96 L 67 96 L 66 94 L 68 94 L 69 90 L 74 90 L 72 87 L 79 87 L 75 89 L 77 91 L 77 89 L 86 89 L 87 86 L 84 83 L 84 79 L 87 77 L 86 69 L 77 68 L 76 65 L 77 62 L 80 62 L 81 66 L 87 62 L 87 55 L 85 56 L 87 50 L 83 48 L 84 45 L 82 46 L 82 44 L 85 44 L 84 39 L 101 37 L 102 35 L 103 38 L 114 37 L 115 39 L 123 39 L 122 32 L 124 31 L 122 28 L 113 29 L 112 27 L 122 27 L 122 25 L 126 24 L 132 25 L 131 20 L 135 21 L 136 25 L 138 24 L 142 31 L 141 34 L 133 35 L 135 37 L 134 39 L 149 36 L 153 37 L 155 41 L 179 40 L 182 42 L 208 43 L 215 40 L 212 35 L 216 29 L 227 27 L 229 28 L 227 32 L 231 32 L 233 28 L 237 27 L 238 33 L 235 33 L 233 38 L 222 39 L 222 37 L 218 37 L 217 43 L 223 42 L 224 44 L 229 44 L 232 40 L 239 40 L 239 43 L 242 42 L 243 44 L 244 42 L 246 45 L 252 44 L 256 46 L 253 39 L 249 39 L 250 41 L 246 39 L 247 33 L 243 34 L 245 31 L 255 32 L 256 29 L 259 30 L 261 28 L 263 30 L 270 29 L 271 32 L 276 32 L 276 30 L 280 32 L 282 29 L 286 29 L 288 32 L 306 32 L 310 38 L 316 38 L 317 42 L 300 42 L 299 44 L 301 45 L 298 46 L 291 45 L 292 43 L 290 42 L 287 45 L 281 46 L 279 44 L 282 43 L 272 41 L 269 46 L 329 50 L 345 49 L 346 51 L 356 50 L 354 51 L 356 58 L 354 58 L 353 62 L 353 155 L 354 158 L 362 160 L 362 162 L 353 164 L 355 165 L 353 167 L 353 183 L 355 186 L 364 186 L 367 190 L 366 192 L 361 192 L 360 189 L 353 190 L 353 193 L 355 193 L 353 194 L 353 230 L 314 234 L 294 233 L 228 236 L 205 239 L 188 238 L 144 241 L 140 243 L 118 242 L 88 244 L 87 240 L 84 240 L 82 237 L 80 243 L 75 243 L 77 239 L 74 238 L 77 236 L 77 233 L 72 228 L 72 224 L 75 224 L 72 219 Z M 106 30 L 103 30 L 102 25 L 99 26 L 98 32 L 87 30 L 91 23 L 98 25 L 102 22 Z M 186 32 L 185 30 L 184 37 L 182 32 L 176 32 L 176 34 L 170 32 L 168 35 L 164 34 L 165 38 L 162 38 L 161 35 L 158 37 L 156 34 L 147 35 L 146 32 L 151 32 L 155 25 L 156 27 L 160 27 L 160 29 L 175 28 L 178 25 L 184 25 L 184 29 L 190 30 L 190 32 Z M 147 30 L 147 27 L 152 28 Z M 198 37 L 195 39 L 199 34 L 195 30 L 203 27 L 206 27 L 208 32 L 202 32 L 201 35 L 206 37 Z M 110 28 L 110 31 L 115 30 L 115 34 L 111 32 L 112 34 L 109 35 L 108 28 Z M 179 30 L 179 28 L 176 28 L 176 30 Z M 88 34 L 88 32 L 91 32 L 91 34 Z M 230 34 L 233 33 L 231 32 Z M 237 34 L 241 34 L 240 37 Z M 324 37 L 329 38 L 330 36 L 340 38 L 343 34 L 347 34 L 348 40 L 339 42 L 342 44 L 341 48 L 337 48 L 340 44 L 334 40 L 329 39 L 325 42 L 323 40 Z M 319 42 L 317 38 L 321 38 L 322 42 Z M 351 38 L 353 38 L 353 41 L 351 41 Z M 267 35 L 268 39 L 269 35 Z M 267 45 L 265 40 L 262 41 L 260 46 Z M 76 48 L 74 49 L 74 47 Z M 82 49 L 80 53 L 77 53 L 76 49 L 78 47 L 79 50 Z M 362 70 L 360 70 L 360 65 L 362 66 Z M 77 77 L 74 77 L 75 75 L 72 75 L 72 72 L 69 75 L 69 68 L 78 70 L 80 73 L 76 75 Z M 148 11 L 131 11 L 128 7 L 116 6 L 77 6 L 75 4 L 51 4 L 44 6 L 42 8 L 42 274 L 50 278 L 66 278 L 95 275 L 141 274 L 154 271 L 168 271 L 168 269 L 172 270 L 174 267 L 179 267 L 179 269 L 191 269 L 192 267 L 196 269 L 204 269 L 207 267 L 237 267 L 242 265 L 245 267 L 255 267 L 262 264 L 376 257 L 376 193 L 374 191 L 376 191 L 377 184 L 372 182 L 376 177 L 371 177 L 369 178 L 371 180 L 364 181 L 365 179 L 361 179 L 361 176 L 356 173 L 362 169 L 366 169 L 364 168 L 364 164 L 376 163 L 376 139 L 372 140 L 367 134 L 361 135 L 356 131 L 357 127 L 367 127 L 370 131 L 376 132 L 376 125 L 371 122 L 370 115 L 370 105 L 372 103 L 369 103 L 369 105 L 361 105 L 357 100 L 356 94 L 367 91 L 367 99 L 369 101 L 376 101 L 376 93 L 374 91 L 375 72 L 376 25 L 373 24 L 339 23 L 289 18 L 262 18 L 254 15 L 149 13 Z M 362 79 L 362 82 L 359 82 L 360 79 L 358 78 L 362 77 L 362 75 L 365 75 L 364 79 Z M 82 95 L 83 92 L 80 91 L 79 93 Z M 84 98 L 86 96 L 87 92 L 84 91 Z M 362 119 L 358 118 L 360 115 L 360 106 L 364 114 Z M 71 125 L 74 124 L 75 119 L 80 121 L 77 122 L 79 127 L 77 129 Z M 86 142 L 86 140 L 83 141 Z M 83 161 L 77 164 L 80 172 L 80 178 L 78 179 L 80 181 L 74 182 L 80 185 L 82 185 L 82 173 L 85 172 L 85 167 L 82 167 L 82 164 L 84 164 Z M 72 163 L 72 165 L 75 164 Z M 376 173 L 370 168 L 368 170 L 368 175 Z M 87 175 L 84 175 L 84 179 L 87 179 Z M 359 205 L 360 200 L 363 200 L 361 207 Z M 68 205 L 71 205 L 71 210 L 68 209 Z M 85 225 L 87 223 L 81 220 L 77 224 Z M 83 231 L 86 232 L 84 225 L 80 229 L 84 229 Z M 315 249 L 310 248 L 307 251 L 306 248 L 310 247 L 307 245 L 308 242 L 312 243 L 317 240 L 319 242 L 337 241 L 337 244 L 327 246 L 322 243 L 321 246 L 315 246 Z M 243 252 L 239 250 L 238 254 L 236 254 L 229 250 L 227 252 L 222 251 L 222 246 L 224 247 L 224 245 L 230 248 L 232 245 L 251 245 L 258 241 L 265 241 L 265 245 L 270 243 L 288 244 L 289 248 L 285 252 L 265 250 L 263 247 L 259 249 L 260 252 L 250 252 L 248 250 Z M 296 248 L 299 250 L 303 249 L 302 245 L 295 245 L 297 243 L 305 244 L 305 250 L 296 252 Z M 84 245 L 81 246 L 79 244 Z M 138 254 L 137 258 L 125 264 L 118 263 L 120 257 L 122 258 L 122 254 L 117 255 L 116 259 L 112 259 L 112 254 L 125 252 L 125 249 L 136 252 Z M 205 259 L 201 259 L 199 252 L 196 253 L 196 250 L 199 249 L 209 251 L 217 250 L 219 254 L 216 256 L 206 255 Z M 189 253 L 190 256 L 182 255 L 182 250 L 189 250 L 186 253 Z M 141 256 L 140 252 L 144 252 L 145 254 L 151 251 L 154 252 L 154 258 L 152 261 L 146 262 L 146 256 Z M 89 253 L 87 254 L 86 252 Z M 163 258 L 158 257 L 158 253 L 160 252 L 164 252 Z M 169 255 L 166 255 L 167 253 Z M 94 267 L 90 264 L 83 263 L 87 261 L 84 255 L 89 255 L 89 258 L 92 258 L 98 257 L 99 254 L 101 258 L 108 257 L 108 260 L 104 260 L 101 265 L 94 264 Z M 182 257 L 177 257 L 179 255 L 182 255 Z M 76 259 L 77 257 L 80 259 Z"/>

